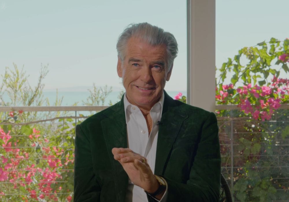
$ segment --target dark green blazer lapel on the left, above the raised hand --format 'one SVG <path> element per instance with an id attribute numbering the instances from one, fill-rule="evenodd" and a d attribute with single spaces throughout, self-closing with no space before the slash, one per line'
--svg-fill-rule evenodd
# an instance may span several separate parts
<path id="1" fill-rule="evenodd" d="M 118 201 L 124 201 L 128 186 L 128 176 L 121 164 L 113 158 L 111 152 L 114 147 L 127 147 L 127 129 L 125 124 L 123 98 L 114 108 L 106 111 L 105 115 L 108 116 L 108 118 L 101 121 L 101 126 L 108 153 L 110 154 L 109 157 L 114 175 L 115 194 Z"/>

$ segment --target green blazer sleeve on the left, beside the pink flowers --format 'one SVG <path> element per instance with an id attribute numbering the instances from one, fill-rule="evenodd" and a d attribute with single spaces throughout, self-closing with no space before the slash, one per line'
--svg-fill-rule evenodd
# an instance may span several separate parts
<path id="1" fill-rule="evenodd" d="M 99 201 L 101 187 L 93 171 L 89 137 L 80 125 L 76 126 L 75 134 L 73 201 Z"/>

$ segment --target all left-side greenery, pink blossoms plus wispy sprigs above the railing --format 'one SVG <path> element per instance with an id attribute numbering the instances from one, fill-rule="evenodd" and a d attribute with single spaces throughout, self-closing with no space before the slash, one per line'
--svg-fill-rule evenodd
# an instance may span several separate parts
<path id="1" fill-rule="evenodd" d="M 5 68 L 0 83 L 1 106 L 49 106 L 43 98 L 42 66 L 35 87 L 23 68 Z M 34 78 L 35 79 L 35 78 Z M 104 103 L 111 92 L 93 85 L 86 105 Z M 3 95 L 10 100 L 5 102 Z M 62 98 L 53 106 L 60 106 Z M 76 104 L 76 103 L 75 103 Z M 0 201 L 71 201 L 75 119 L 70 112 L 0 112 Z M 61 119 L 60 117 L 67 117 Z M 77 124 L 83 120 L 79 114 Z M 39 122 L 40 121 L 40 122 Z"/>

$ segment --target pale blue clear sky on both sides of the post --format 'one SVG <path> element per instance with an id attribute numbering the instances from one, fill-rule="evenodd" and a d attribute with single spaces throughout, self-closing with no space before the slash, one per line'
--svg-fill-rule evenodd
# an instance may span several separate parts
<path id="1" fill-rule="evenodd" d="M 216 0 L 216 66 L 244 46 L 288 38 L 288 8 L 287 0 Z M 179 54 L 165 89 L 185 91 L 185 0 L 0 0 L 0 74 L 15 63 L 34 86 L 42 63 L 49 64 L 46 90 L 92 83 L 120 88 L 116 41 L 127 25 L 140 22 L 175 35 Z"/>

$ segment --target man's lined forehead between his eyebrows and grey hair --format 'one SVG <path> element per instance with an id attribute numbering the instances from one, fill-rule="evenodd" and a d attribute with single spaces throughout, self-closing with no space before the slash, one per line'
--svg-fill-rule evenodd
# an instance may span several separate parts
<path id="1" fill-rule="evenodd" d="M 131 37 L 127 42 L 125 59 L 136 57 L 141 59 L 164 60 L 166 62 L 166 45 L 152 46 L 148 42 L 136 37 Z"/>

